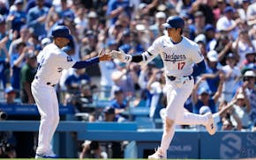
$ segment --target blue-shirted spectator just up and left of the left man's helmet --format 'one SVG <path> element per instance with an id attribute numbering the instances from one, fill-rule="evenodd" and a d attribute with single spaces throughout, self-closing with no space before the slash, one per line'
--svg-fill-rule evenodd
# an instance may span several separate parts
<path id="1" fill-rule="evenodd" d="M 36 0 L 36 6 L 27 13 L 27 25 L 34 29 L 36 36 L 46 35 L 45 23 L 49 8 L 44 6 L 44 0 Z"/>

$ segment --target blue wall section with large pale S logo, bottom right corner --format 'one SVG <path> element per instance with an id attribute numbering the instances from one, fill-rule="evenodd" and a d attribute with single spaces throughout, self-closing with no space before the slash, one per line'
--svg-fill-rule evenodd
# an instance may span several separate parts
<path id="1" fill-rule="evenodd" d="M 256 133 L 200 133 L 200 158 L 237 159 L 256 157 Z"/>

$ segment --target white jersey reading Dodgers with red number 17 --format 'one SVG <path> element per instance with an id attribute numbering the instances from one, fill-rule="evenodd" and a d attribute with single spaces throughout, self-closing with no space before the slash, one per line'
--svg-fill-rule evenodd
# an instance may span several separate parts
<path id="1" fill-rule="evenodd" d="M 169 36 L 164 35 L 154 40 L 147 52 L 153 56 L 161 55 L 167 76 L 189 76 L 192 74 L 192 64 L 204 59 L 200 47 L 185 37 L 174 44 Z"/>

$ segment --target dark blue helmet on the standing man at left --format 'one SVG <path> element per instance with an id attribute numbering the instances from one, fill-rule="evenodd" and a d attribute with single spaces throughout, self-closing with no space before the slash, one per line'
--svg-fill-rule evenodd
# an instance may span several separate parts
<path id="1" fill-rule="evenodd" d="M 71 32 L 69 28 L 65 25 L 56 25 L 51 32 L 51 36 L 53 38 L 63 37 L 63 38 L 72 40 Z"/>

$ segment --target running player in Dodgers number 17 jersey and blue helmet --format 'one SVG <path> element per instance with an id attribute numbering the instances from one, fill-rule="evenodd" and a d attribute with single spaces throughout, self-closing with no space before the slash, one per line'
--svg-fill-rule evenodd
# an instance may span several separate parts
<path id="1" fill-rule="evenodd" d="M 172 16 L 163 24 L 168 35 L 163 35 L 154 40 L 147 52 L 141 55 L 126 55 L 124 51 L 113 50 L 112 57 L 121 62 L 139 62 L 145 64 L 161 55 L 164 64 L 167 101 L 166 118 L 163 127 L 161 146 L 156 152 L 148 156 L 149 159 L 167 158 L 167 149 L 173 138 L 176 124 L 204 125 L 210 135 L 215 134 L 212 113 L 204 115 L 184 113 L 184 102 L 192 93 L 195 76 L 205 72 L 206 65 L 200 47 L 182 36 L 184 20 L 178 16 Z"/>

